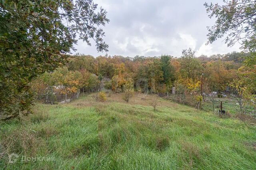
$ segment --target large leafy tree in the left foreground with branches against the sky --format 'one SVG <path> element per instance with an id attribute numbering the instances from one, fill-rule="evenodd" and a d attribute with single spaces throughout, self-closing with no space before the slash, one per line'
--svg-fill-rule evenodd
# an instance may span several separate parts
<path id="1" fill-rule="evenodd" d="M 92 0 L 5 0 L 0 2 L 0 116 L 29 113 L 29 82 L 66 63 L 78 38 L 107 51 L 104 31 L 109 22 Z"/>

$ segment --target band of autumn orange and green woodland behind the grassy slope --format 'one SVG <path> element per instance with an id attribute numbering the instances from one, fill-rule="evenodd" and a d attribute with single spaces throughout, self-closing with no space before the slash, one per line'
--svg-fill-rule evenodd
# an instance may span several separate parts
<path id="1" fill-rule="evenodd" d="M 177 101 L 185 94 L 200 97 L 203 74 L 203 92 L 241 96 L 255 102 L 256 68 L 244 65 L 247 53 L 195 56 L 186 49 L 181 57 L 99 56 L 77 54 L 69 56 L 68 64 L 54 72 L 46 72 L 32 81 L 33 92 L 44 103 L 77 98 L 80 92 L 139 91 L 150 94 L 171 93 L 176 88 Z"/>

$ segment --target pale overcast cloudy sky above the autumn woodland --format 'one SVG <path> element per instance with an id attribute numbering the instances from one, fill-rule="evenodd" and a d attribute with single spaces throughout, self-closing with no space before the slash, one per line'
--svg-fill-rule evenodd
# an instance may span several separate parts
<path id="1" fill-rule="evenodd" d="M 223 39 L 210 45 L 207 26 L 214 24 L 208 18 L 204 2 L 222 3 L 222 0 L 94 0 L 106 9 L 110 22 L 102 27 L 109 45 L 108 55 L 124 57 L 160 56 L 180 57 L 182 49 L 192 48 L 196 55 L 224 54 L 240 51 L 240 45 L 227 47 Z M 92 42 L 92 41 L 91 41 Z M 92 43 L 93 44 L 93 43 Z M 78 53 L 98 53 L 82 41 L 75 46 Z"/>

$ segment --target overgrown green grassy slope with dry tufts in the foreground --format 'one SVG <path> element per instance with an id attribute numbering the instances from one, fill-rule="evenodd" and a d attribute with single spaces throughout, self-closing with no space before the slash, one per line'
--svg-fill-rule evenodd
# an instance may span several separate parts
<path id="1" fill-rule="evenodd" d="M 237 119 L 136 94 L 95 103 L 34 106 L 22 121 L 1 122 L 0 167 L 6 169 L 256 169 L 256 127 Z M 8 163 L 8 154 L 20 156 Z M 53 161 L 22 162 L 52 156 Z"/>

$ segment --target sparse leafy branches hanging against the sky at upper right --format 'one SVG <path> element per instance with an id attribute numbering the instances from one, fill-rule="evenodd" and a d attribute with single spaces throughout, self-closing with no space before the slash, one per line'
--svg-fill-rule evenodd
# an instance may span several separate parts
<path id="1" fill-rule="evenodd" d="M 217 18 L 215 25 L 208 27 L 208 43 L 225 37 L 225 43 L 236 42 L 251 53 L 248 65 L 256 64 L 256 5 L 255 0 L 224 0 L 224 5 L 205 3 L 209 18 Z"/>

